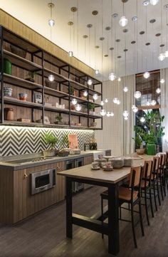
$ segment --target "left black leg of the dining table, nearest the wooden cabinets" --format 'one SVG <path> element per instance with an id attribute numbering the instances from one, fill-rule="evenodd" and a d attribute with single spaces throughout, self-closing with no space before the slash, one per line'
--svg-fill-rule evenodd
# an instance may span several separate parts
<path id="1" fill-rule="evenodd" d="M 73 201 L 72 201 L 72 181 L 66 177 L 66 237 L 73 238 Z"/>

